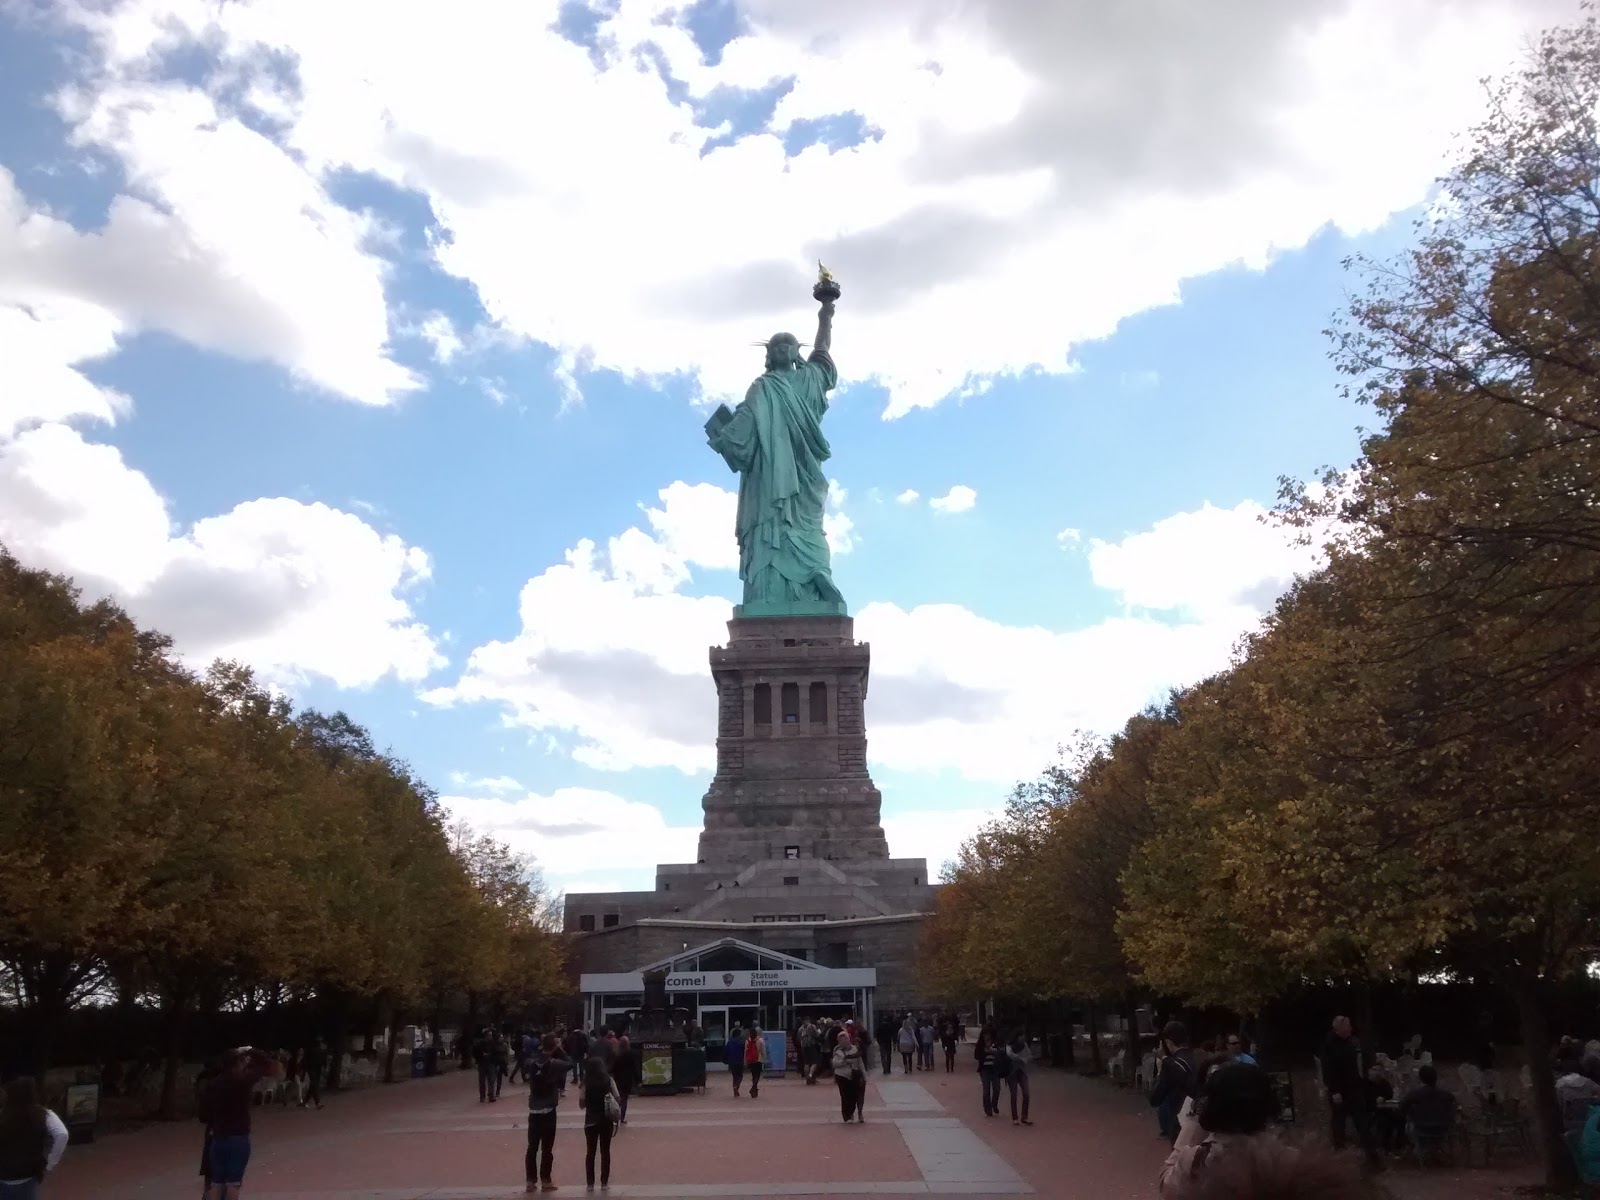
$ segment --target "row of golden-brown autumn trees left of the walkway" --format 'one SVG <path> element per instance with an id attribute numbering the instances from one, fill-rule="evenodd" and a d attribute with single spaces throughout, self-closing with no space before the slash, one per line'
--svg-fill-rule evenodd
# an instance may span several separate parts
<path id="1" fill-rule="evenodd" d="M 88 994 L 154 1000 L 171 1115 L 192 1014 L 298 997 L 334 1042 L 352 1006 L 437 1027 L 474 986 L 560 987 L 550 912 L 531 859 L 462 853 L 344 714 L 294 714 L 237 664 L 197 675 L 0 550 L 0 981 L 35 1067 Z"/>

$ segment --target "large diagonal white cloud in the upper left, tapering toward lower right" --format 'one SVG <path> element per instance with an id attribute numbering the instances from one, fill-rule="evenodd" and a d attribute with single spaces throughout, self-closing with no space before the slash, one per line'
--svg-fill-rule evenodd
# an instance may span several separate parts
<path id="1" fill-rule="evenodd" d="M 96 83 L 64 91 L 61 112 L 126 190 L 78 230 L 0 168 L 0 306 L 93 307 L 114 338 L 162 330 L 362 403 L 419 386 L 387 354 L 387 266 L 366 218 L 197 88 Z"/>

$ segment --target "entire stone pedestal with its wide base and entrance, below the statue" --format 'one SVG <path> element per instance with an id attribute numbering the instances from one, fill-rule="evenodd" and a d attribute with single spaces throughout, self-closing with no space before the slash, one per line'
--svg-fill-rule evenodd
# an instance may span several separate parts
<path id="1" fill-rule="evenodd" d="M 701 981 L 672 1003 L 707 1037 L 752 1014 L 794 1029 L 806 1006 L 870 1022 L 875 1002 L 926 1003 L 917 934 L 938 885 L 923 859 L 888 853 L 869 661 L 848 616 L 728 622 L 710 650 L 717 771 L 696 861 L 659 864 L 648 891 L 566 896 L 587 1024 L 638 1008 L 642 973 L 659 968 Z"/>

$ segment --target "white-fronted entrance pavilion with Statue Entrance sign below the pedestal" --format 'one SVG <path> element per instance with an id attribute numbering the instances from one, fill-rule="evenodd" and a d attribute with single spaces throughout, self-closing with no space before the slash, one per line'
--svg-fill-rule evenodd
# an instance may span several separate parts
<path id="1" fill-rule="evenodd" d="M 682 1008 L 706 1034 L 706 1058 L 722 1062 L 723 1043 L 734 1026 L 794 1030 L 806 1018 L 853 1019 L 872 1029 L 872 1000 L 878 973 L 870 966 L 818 966 L 805 958 L 720 938 L 685 949 L 637 971 L 579 976 L 584 1024 L 598 1029 L 645 998 L 645 974 L 667 973 L 667 1005 Z"/>

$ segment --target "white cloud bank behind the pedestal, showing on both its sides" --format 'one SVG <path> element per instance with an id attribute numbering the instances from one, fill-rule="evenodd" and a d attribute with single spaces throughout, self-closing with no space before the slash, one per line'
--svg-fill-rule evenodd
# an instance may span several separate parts
<path id="1" fill-rule="evenodd" d="M 699 542 L 678 506 L 693 510 L 704 493 L 672 485 L 661 499 L 654 538 L 634 528 L 605 550 L 579 542 L 523 587 L 522 632 L 474 650 L 461 678 L 427 699 L 494 704 L 510 725 L 562 734 L 589 766 L 709 770 L 706 650 L 725 642 L 731 600 L 680 590 L 693 570 L 672 544 Z M 957 605 L 859 605 L 872 762 L 1013 781 L 1075 730 L 1115 730 L 1168 688 L 1219 670 L 1296 563 L 1310 562 L 1258 525 L 1259 512 L 1205 506 L 1093 542 L 1094 581 L 1131 611 L 1082 629 L 1006 626 Z"/>

